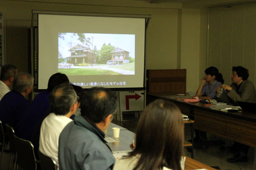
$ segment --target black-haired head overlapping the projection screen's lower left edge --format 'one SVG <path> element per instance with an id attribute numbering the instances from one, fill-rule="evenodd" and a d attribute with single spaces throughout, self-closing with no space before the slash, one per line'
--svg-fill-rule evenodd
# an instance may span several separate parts
<path id="1" fill-rule="evenodd" d="M 69 78 L 60 72 L 55 73 L 52 75 L 48 81 L 48 87 L 47 90 L 49 92 L 52 91 L 52 89 L 62 83 L 69 83 Z"/>

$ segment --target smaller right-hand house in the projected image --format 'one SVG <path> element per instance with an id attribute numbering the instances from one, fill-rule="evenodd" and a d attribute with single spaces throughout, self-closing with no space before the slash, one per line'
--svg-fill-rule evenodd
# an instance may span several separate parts
<path id="1" fill-rule="evenodd" d="M 121 65 L 123 63 L 129 63 L 129 52 L 119 47 L 116 47 L 116 49 L 112 52 L 111 60 L 116 61 L 117 65 Z"/>

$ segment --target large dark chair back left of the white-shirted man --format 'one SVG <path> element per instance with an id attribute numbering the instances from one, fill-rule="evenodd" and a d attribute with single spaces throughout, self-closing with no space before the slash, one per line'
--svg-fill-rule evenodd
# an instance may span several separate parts
<path id="1" fill-rule="evenodd" d="M 34 146 L 29 140 L 21 139 L 14 135 L 14 144 L 17 151 L 17 164 L 23 169 L 30 170 L 37 168 Z"/>

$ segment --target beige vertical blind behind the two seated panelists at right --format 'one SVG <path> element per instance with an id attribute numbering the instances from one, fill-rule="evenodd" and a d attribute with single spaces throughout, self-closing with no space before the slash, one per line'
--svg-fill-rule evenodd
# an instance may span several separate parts
<path id="1" fill-rule="evenodd" d="M 256 83 L 256 4 L 209 10 L 208 66 L 216 66 L 231 84 L 232 66 L 249 70 Z"/>

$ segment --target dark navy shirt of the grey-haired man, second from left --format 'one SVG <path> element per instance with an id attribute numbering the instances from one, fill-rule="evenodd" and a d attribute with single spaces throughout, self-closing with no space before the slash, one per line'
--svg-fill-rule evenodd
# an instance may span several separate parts
<path id="1" fill-rule="evenodd" d="M 16 91 L 10 91 L 5 94 L 0 102 L 0 119 L 4 124 L 13 127 L 15 133 L 20 117 L 26 114 L 29 102 L 24 96 Z"/>

